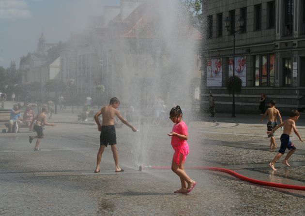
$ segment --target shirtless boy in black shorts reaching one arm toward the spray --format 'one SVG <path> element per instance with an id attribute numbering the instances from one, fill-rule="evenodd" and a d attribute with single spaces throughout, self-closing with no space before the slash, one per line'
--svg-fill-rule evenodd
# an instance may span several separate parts
<path id="1" fill-rule="evenodd" d="M 111 150 L 113 153 L 113 159 L 115 162 L 115 172 L 123 172 L 124 170 L 119 167 L 119 156 L 118 156 L 118 150 L 117 150 L 117 137 L 115 134 L 115 128 L 114 128 L 114 117 L 117 116 L 125 125 L 127 125 L 129 128 L 131 128 L 132 131 L 136 132 L 137 129 L 129 124 L 121 115 L 120 111 L 117 110 L 117 108 L 120 105 L 120 101 L 117 98 L 111 98 L 109 105 L 104 106 L 102 109 L 100 109 L 95 115 L 94 120 L 98 126 L 98 131 L 101 131 L 100 135 L 100 148 L 97 153 L 96 158 L 96 168 L 94 170 L 94 173 L 100 172 L 100 163 L 102 159 L 102 154 L 104 152 L 105 146 L 108 144 L 111 145 Z M 103 117 L 103 123 L 102 126 L 100 124 L 100 121 L 98 117 L 102 115 Z"/>

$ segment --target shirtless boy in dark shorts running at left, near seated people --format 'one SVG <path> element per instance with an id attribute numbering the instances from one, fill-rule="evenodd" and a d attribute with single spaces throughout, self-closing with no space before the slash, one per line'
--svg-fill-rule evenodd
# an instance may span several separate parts
<path id="1" fill-rule="evenodd" d="M 32 128 L 33 124 L 34 124 L 34 130 L 37 132 L 37 136 L 30 136 L 29 137 L 29 142 L 32 143 L 33 139 L 37 139 L 36 141 L 36 145 L 34 147 L 34 151 L 39 151 L 40 148 L 38 148 L 38 145 L 40 144 L 40 141 L 42 138 L 44 138 L 44 133 L 43 133 L 43 129 L 42 126 L 43 125 L 48 125 L 48 126 L 55 126 L 55 124 L 51 124 L 51 123 L 47 123 L 46 122 L 46 114 L 48 113 L 48 109 L 46 106 L 43 106 L 41 113 L 36 115 L 32 122 L 31 122 L 31 126 L 30 128 Z"/>

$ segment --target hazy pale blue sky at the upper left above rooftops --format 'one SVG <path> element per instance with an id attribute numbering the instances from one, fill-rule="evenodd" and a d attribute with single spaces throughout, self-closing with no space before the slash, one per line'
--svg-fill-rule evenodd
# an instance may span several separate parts
<path id="1" fill-rule="evenodd" d="M 66 42 L 81 33 L 89 16 L 120 0 L 0 0 L 0 66 L 7 68 L 37 49 L 42 32 L 46 43 Z"/>

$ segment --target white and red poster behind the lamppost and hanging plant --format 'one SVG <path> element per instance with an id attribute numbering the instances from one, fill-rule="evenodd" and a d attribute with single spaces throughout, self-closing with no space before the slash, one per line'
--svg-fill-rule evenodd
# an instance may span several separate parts
<path id="1" fill-rule="evenodd" d="M 233 76 L 233 58 L 229 58 L 229 76 Z M 242 86 L 246 86 L 246 57 L 235 57 L 235 76 L 243 81 Z"/>

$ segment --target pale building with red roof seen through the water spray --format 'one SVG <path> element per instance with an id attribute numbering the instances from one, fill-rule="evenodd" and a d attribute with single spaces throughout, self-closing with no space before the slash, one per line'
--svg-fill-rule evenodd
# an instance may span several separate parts
<path id="1" fill-rule="evenodd" d="M 75 80 L 79 98 L 90 96 L 93 101 L 100 100 L 98 95 L 94 95 L 95 87 L 103 85 L 105 98 L 116 96 L 124 100 L 122 102 L 125 104 L 139 103 L 138 107 L 141 108 L 152 107 L 159 97 L 169 101 L 169 91 L 178 88 L 179 77 L 183 75 L 177 59 L 195 56 L 187 55 L 192 53 L 194 47 L 186 44 L 196 43 L 197 48 L 201 34 L 193 27 L 183 24 L 177 25 L 179 30 L 165 36 L 162 29 L 164 19 L 161 18 L 159 8 L 164 4 L 161 0 L 156 2 L 121 0 L 119 7 L 105 7 L 103 15 L 92 19 L 94 25 L 65 43 L 60 57 L 60 77 L 65 83 L 70 79 Z M 168 7 L 167 10 L 171 9 Z M 178 40 L 184 44 L 180 47 L 167 45 L 181 44 Z M 198 52 L 195 54 L 195 58 L 188 59 L 187 64 L 184 64 L 187 77 L 181 77 L 183 82 L 191 80 L 197 85 L 192 85 L 195 86 L 192 89 L 194 92 L 196 87 L 199 88 L 201 65 Z M 168 84 L 169 76 L 177 82 L 171 81 Z"/>

